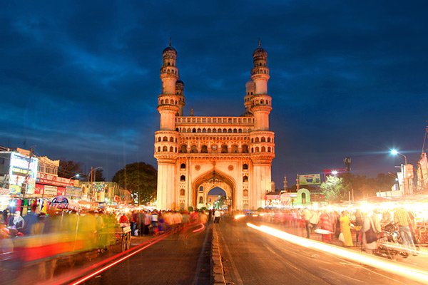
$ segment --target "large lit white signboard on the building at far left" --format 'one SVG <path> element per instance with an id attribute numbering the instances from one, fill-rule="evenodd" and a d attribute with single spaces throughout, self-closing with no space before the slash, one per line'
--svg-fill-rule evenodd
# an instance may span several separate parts
<path id="1" fill-rule="evenodd" d="M 34 194 L 39 159 L 11 152 L 9 167 L 9 194 L 21 195 L 21 186 L 26 184 L 26 195 Z"/>

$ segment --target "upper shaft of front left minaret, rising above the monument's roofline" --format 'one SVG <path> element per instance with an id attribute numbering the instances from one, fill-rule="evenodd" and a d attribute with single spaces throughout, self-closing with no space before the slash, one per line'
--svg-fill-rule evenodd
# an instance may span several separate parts
<path id="1" fill-rule="evenodd" d="M 178 68 L 175 66 L 177 51 L 171 46 L 163 50 L 161 67 L 162 93 L 158 97 L 158 111 L 161 114 L 161 130 L 175 130 L 175 115 L 179 113 L 179 96 L 175 93 Z"/>

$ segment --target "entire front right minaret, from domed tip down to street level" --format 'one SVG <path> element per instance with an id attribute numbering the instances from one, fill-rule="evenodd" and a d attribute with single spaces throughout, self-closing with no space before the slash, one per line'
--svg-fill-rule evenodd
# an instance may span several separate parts
<path id="1" fill-rule="evenodd" d="M 275 157 L 275 133 L 269 130 L 269 114 L 272 110 L 270 95 L 267 95 L 267 52 L 262 48 L 260 40 L 258 48 L 253 52 L 254 67 L 251 70 L 251 80 L 254 83 L 254 93 L 251 95 L 251 86 L 247 83 L 245 107 L 250 100 L 250 113 L 254 115 L 254 130 L 250 133 L 250 157 L 253 162 L 251 177 L 251 195 L 249 206 L 251 209 L 265 206 L 265 195 L 271 190 L 271 165 Z M 249 97 L 248 97 L 249 96 Z"/>

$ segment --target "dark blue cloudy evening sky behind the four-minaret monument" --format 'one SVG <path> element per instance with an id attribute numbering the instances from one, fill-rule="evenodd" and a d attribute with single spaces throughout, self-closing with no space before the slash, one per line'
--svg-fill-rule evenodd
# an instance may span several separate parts
<path id="1" fill-rule="evenodd" d="M 207 2 L 207 3 L 205 3 Z M 375 2 L 375 3 L 373 3 Z M 156 166 L 161 54 L 185 115 L 240 115 L 267 50 L 272 178 L 415 164 L 428 120 L 427 1 L 1 1 L 0 145 L 102 166 Z"/>

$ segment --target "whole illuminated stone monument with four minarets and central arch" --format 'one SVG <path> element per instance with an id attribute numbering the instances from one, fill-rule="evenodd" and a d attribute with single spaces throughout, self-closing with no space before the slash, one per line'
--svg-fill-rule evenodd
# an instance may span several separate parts
<path id="1" fill-rule="evenodd" d="M 163 50 L 160 130 L 155 133 L 159 209 L 208 207 L 214 187 L 226 193 L 230 209 L 265 206 L 270 192 L 274 133 L 269 130 L 272 98 L 267 95 L 267 53 L 253 53 L 251 80 L 245 84 L 245 113 L 239 117 L 183 116 L 184 83 L 175 66 L 177 51 Z"/>

